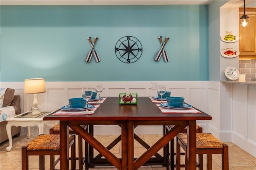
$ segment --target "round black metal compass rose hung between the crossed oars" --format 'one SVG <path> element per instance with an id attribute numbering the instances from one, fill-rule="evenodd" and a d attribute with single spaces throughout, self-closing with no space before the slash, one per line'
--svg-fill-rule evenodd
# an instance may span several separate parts
<path id="1" fill-rule="evenodd" d="M 134 63 L 142 54 L 142 45 L 132 36 L 120 38 L 115 47 L 116 57 L 123 63 Z"/>

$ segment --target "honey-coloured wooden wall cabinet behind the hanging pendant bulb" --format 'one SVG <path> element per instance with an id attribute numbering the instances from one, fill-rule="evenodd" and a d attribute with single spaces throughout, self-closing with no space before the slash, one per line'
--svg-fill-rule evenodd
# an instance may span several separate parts
<path id="1" fill-rule="evenodd" d="M 256 58 L 256 8 L 246 8 L 245 13 L 249 16 L 246 27 L 240 25 L 240 17 L 244 8 L 239 8 L 239 51 L 240 58 Z"/>

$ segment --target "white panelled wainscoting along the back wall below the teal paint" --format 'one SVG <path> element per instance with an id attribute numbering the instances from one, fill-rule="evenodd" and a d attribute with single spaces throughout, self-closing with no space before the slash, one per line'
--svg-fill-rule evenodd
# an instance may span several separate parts
<path id="1" fill-rule="evenodd" d="M 68 104 L 69 98 L 81 96 L 83 86 L 95 86 L 96 82 L 46 82 L 46 93 L 38 94 L 39 110 L 54 111 Z M 192 104 L 198 109 L 208 113 L 208 81 L 162 81 L 158 84 L 165 84 L 166 91 L 171 91 L 171 96 L 183 96 L 185 102 Z M 118 96 L 120 92 L 136 92 L 138 96 L 153 96 L 150 89 L 150 82 L 103 82 L 104 90 L 101 96 Z M 29 111 L 33 106 L 33 94 L 24 94 L 24 82 L 1 82 L 1 87 L 10 87 L 16 90 L 15 94 L 21 96 L 22 111 Z M 157 92 L 155 91 L 155 95 Z M 118 101 L 117 101 L 118 102 Z M 204 131 L 208 129 L 209 121 L 198 121 Z M 45 133 L 52 125 L 58 122 L 48 123 L 45 126 Z M 162 134 L 161 126 L 143 127 L 135 129 L 137 134 Z M 32 135 L 38 135 L 38 127 L 32 128 Z M 22 128 L 21 135 L 26 135 L 26 128 Z M 120 134 L 117 126 L 95 126 L 95 135 L 116 135 Z"/>

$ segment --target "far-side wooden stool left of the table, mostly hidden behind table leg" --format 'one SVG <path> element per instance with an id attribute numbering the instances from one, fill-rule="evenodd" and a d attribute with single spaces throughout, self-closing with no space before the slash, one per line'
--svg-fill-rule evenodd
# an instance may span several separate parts
<path id="1" fill-rule="evenodd" d="M 87 125 L 82 125 L 82 127 L 85 130 L 88 130 Z M 76 134 L 73 129 L 69 127 L 69 134 Z M 60 123 L 54 125 L 53 127 L 50 128 L 50 134 L 60 134 Z M 78 135 L 78 134 L 76 134 Z M 82 137 L 78 135 L 78 169 L 82 170 L 83 165 L 85 164 L 85 169 L 88 170 L 88 164 L 89 164 L 89 144 L 85 141 L 85 156 L 83 157 L 83 147 L 82 147 Z"/>

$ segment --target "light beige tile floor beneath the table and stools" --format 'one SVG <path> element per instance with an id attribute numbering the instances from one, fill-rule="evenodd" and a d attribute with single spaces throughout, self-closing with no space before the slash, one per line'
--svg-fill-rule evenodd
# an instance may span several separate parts
<path id="1" fill-rule="evenodd" d="M 139 135 L 146 143 L 152 145 L 157 141 L 161 135 Z M 104 146 L 107 146 L 117 135 L 100 135 L 96 136 Z M 6 151 L 6 147 L 9 145 L 8 141 L 4 142 L 0 146 L 0 170 L 21 170 L 21 147 L 29 143 L 32 139 L 27 139 L 25 136 L 13 138 L 13 147 L 10 152 Z M 248 154 L 244 150 L 240 149 L 233 143 L 226 143 L 229 146 L 229 169 L 230 170 L 256 170 L 256 158 Z M 120 143 L 118 143 L 113 149 L 112 153 L 116 156 L 120 156 L 121 149 Z M 138 157 L 146 149 L 144 149 L 138 142 L 134 142 L 134 156 Z M 96 155 L 98 152 L 95 151 Z M 162 154 L 162 150 L 158 152 Z M 221 155 L 214 154 L 213 157 L 213 170 L 221 170 Z M 49 169 L 49 158 L 46 156 L 46 169 Z M 29 169 L 38 170 L 38 156 L 29 157 Z M 206 157 L 204 157 L 204 165 L 206 164 Z M 77 165 L 78 167 L 78 165 Z M 59 168 L 58 165 L 56 168 Z M 142 166 L 139 170 L 165 170 L 162 166 Z M 204 166 L 204 170 L 206 167 Z M 90 170 L 116 170 L 114 167 L 94 167 Z M 184 168 L 182 169 L 184 170 Z"/>

